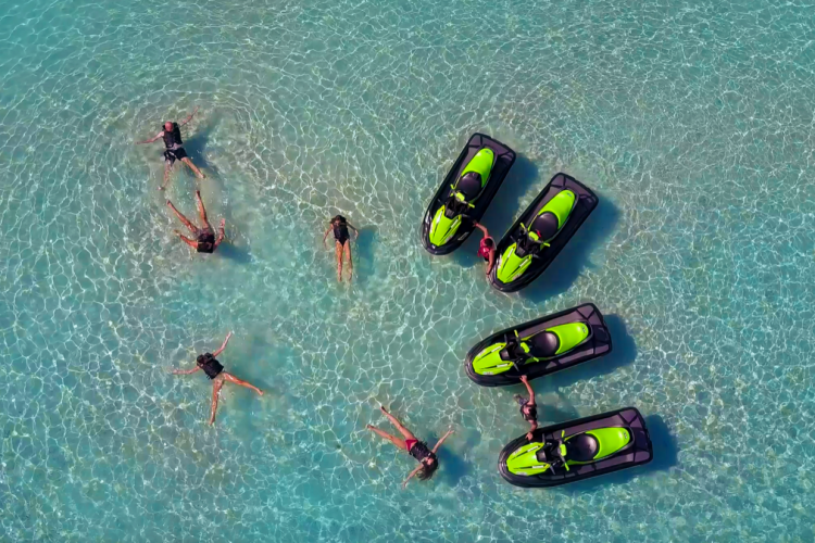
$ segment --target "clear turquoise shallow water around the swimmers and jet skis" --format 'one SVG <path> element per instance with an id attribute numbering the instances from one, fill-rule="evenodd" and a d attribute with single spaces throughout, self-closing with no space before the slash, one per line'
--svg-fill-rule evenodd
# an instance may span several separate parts
<path id="1" fill-rule="evenodd" d="M 2 541 L 813 541 L 815 8 L 805 3 L 4 2 Z M 166 118 L 231 245 L 172 229 Z M 600 207 L 522 295 L 428 199 L 473 131 L 519 157 L 503 231 L 557 171 Z M 168 197 L 187 214 L 197 182 Z M 319 238 L 363 229 L 337 286 Z M 585 301 L 615 353 L 535 382 L 543 421 L 625 405 L 648 467 L 505 484 L 519 389 L 471 383 L 485 334 Z M 168 370 L 236 337 L 227 369 Z M 364 430 L 390 405 L 442 468 Z"/>

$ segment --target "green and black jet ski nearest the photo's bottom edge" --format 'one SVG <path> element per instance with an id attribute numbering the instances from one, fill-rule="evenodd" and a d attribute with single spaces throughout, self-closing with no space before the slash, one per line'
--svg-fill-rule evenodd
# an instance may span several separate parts
<path id="1" fill-rule="evenodd" d="M 626 407 L 538 428 L 501 450 L 498 470 L 516 487 L 557 487 L 648 464 L 653 457 L 645 420 Z"/>

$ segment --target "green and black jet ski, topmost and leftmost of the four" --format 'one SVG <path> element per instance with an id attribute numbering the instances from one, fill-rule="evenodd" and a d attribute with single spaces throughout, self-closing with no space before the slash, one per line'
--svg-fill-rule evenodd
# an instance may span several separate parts
<path id="1" fill-rule="evenodd" d="M 474 134 L 434 195 L 422 223 L 422 244 L 432 254 L 456 250 L 473 232 L 515 162 L 515 151 Z"/>

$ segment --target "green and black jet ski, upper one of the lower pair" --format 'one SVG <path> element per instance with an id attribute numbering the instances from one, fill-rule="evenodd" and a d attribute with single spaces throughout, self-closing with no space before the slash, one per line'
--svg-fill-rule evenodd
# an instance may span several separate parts
<path id="1" fill-rule="evenodd" d="M 521 376 L 535 379 L 609 354 L 612 339 L 594 304 L 507 328 L 479 341 L 467 353 L 464 367 L 485 387 L 517 384 Z"/>

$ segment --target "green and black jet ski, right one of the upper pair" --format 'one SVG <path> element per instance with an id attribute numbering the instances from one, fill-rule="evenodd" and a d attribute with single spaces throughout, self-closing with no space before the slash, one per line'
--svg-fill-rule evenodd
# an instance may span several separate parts
<path id="1" fill-rule="evenodd" d="M 560 254 L 598 198 L 566 174 L 555 175 L 498 243 L 490 283 L 515 292 L 532 282 Z"/>

